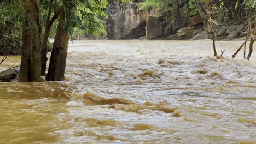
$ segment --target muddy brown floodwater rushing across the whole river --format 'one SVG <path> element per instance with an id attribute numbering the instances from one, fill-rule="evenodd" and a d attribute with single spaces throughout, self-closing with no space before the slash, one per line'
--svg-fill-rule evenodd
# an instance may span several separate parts
<path id="1" fill-rule="evenodd" d="M 0 143 L 256 143 L 242 43 L 218 41 L 216 59 L 210 40 L 76 41 L 65 81 L 0 83 Z"/>

